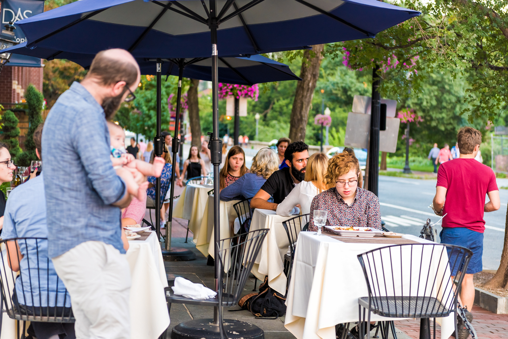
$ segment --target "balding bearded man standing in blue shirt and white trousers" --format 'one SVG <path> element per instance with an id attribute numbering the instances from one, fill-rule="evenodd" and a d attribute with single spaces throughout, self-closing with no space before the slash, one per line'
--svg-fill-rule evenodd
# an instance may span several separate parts
<path id="1" fill-rule="evenodd" d="M 106 120 L 134 99 L 139 81 L 129 52 L 99 52 L 83 81 L 58 98 L 44 125 L 48 257 L 71 296 L 77 338 L 131 338 L 131 278 L 120 208 L 131 200 L 126 178 L 138 184 L 145 178 L 126 166 L 113 169 Z"/>

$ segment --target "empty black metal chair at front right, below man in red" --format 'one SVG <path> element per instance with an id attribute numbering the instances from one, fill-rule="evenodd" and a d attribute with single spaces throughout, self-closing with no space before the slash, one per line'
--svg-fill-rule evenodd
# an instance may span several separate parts
<path id="1" fill-rule="evenodd" d="M 435 318 L 457 315 L 457 298 L 471 256 L 460 246 L 432 243 L 392 245 L 358 255 L 369 293 L 358 298 L 359 337 L 367 334 L 370 339 L 370 331 L 364 331 L 372 312 L 389 318 L 421 318 L 427 328 L 434 318 L 435 338 Z M 451 276 L 455 276 L 455 290 Z M 455 333 L 458 338 L 457 323 Z"/>

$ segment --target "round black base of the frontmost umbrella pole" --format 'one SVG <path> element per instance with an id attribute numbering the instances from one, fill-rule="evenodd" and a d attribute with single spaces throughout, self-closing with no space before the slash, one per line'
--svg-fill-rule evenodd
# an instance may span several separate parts
<path id="1" fill-rule="evenodd" d="M 265 333 L 258 326 L 238 320 L 224 320 L 227 337 L 245 339 L 264 339 Z M 219 327 L 213 325 L 213 319 L 195 319 L 173 327 L 171 339 L 214 339 L 220 338 Z"/>

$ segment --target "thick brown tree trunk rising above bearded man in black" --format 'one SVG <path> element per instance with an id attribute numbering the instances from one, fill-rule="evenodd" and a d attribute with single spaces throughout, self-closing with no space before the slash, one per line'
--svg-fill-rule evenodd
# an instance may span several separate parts
<path id="1" fill-rule="evenodd" d="M 295 100 L 291 110 L 291 125 L 289 138 L 291 141 L 304 141 L 305 129 L 309 119 L 310 103 L 319 78 L 319 68 L 323 59 L 324 45 L 312 46 L 312 51 L 303 52 L 302 68 L 300 71 L 301 81 L 296 86 Z"/>

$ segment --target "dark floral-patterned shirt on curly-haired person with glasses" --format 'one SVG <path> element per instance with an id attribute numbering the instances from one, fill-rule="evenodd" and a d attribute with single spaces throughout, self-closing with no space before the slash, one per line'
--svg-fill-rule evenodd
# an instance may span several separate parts
<path id="1" fill-rule="evenodd" d="M 362 188 L 356 189 L 356 197 L 351 206 L 344 202 L 335 187 L 316 195 L 310 204 L 309 231 L 317 230 L 314 226 L 315 209 L 328 211 L 327 226 L 381 229 L 379 200 L 374 193 Z"/>

